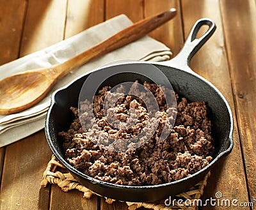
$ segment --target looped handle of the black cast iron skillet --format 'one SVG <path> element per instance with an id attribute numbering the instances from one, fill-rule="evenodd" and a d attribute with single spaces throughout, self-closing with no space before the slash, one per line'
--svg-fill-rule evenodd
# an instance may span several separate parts
<path id="1" fill-rule="evenodd" d="M 209 26 L 209 29 L 200 37 L 196 38 L 198 31 L 202 26 Z M 163 63 L 167 66 L 172 66 L 175 68 L 180 68 L 186 71 L 192 71 L 189 68 L 189 63 L 191 58 L 196 54 L 196 52 L 204 45 L 204 43 L 212 36 L 216 30 L 216 25 L 211 19 L 199 19 L 196 21 L 195 25 L 191 29 L 187 40 L 184 43 L 182 50 L 180 50 L 177 56 L 173 57 L 170 61 L 164 61 Z"/>

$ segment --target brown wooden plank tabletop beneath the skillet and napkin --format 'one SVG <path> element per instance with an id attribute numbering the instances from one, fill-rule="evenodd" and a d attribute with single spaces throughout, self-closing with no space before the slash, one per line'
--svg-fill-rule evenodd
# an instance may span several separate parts
<path id="1" fill-rule="evenodd" d="M 57 43 L 125 13 L 138 21 L 168 8 L 177 16 L 150 36 L 174 55 L 196 20 L 209 17 L 217 30 L 191 61 L 191 68 L 220 89 L 234 115 L 234 149 L 211 173 L 204 199 L 253 202 L 256 207 L 256 6 L 254 0 L 0 0 L 0 64 Z M 1 73 L 1 72 L 0 72 Z M 127 209 L 100 197 L 65 193 L 56 185 L 40 187 L 51 158 L 44 130 L 0 148 L 1 209 Z"/>

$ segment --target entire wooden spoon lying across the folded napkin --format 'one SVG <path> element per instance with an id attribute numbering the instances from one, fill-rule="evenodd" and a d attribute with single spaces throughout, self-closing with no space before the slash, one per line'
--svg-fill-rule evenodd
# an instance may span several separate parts
<path id="1" fill-rule="evenodd" d="M 42 100 L 54 84 L 71 70 L 145 36 L 175 15 L 175 9 L 164 11 L 136 22 L 64 63 L 6 77 L 0 81 L 0 114 L 13 114 L 28 109 Z"/>

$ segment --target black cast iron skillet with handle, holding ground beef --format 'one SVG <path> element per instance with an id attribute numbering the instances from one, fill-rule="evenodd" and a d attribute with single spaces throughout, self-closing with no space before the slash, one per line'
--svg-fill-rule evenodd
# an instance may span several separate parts
<path id="1" fill-rule="evenodd" d="M 196 38 L 196 34 L 200 27 L 207 25 L 209 29 L 200 38 Z M 79 91 L 83 86 L 84 81 L 90 75 L 86 73 L 82 77 L 74 80 L 71 84 L 59 89 L 52 94 L 52 101 L 45 121 L 45 133 L 52 153 L 60 160 L 67 170 L 76 177 L 77 181 L 84 184 L 87 188 L 111 199 L 130 201 L 130 202 L 146 202 L 160 200 L 166 197 L 177 195 L 184 190 L 188 190 L 191 186 L 200 181 L 209 170 L 216 164 L 221 157 L 226 156 L 233 147 L 232 130 L 233 119 L 232 112 L 223 95 L 210 82 L 194 73 L 189 68 L 189 61 L 205 41 L 207 41 L 216 26 L 210 19 L 200 19 L 195 23 L 191 33 L 188 36 L 183 49 L 178 56 L 171 61 L 162 63 L 148 63 L 157 66 L 164 75 L 170 80 L 173 89 L 181 96 L 185 96 L 190 101 L 203 100 L 207 102 L 209 117 L 212 121 L 212 133 L 214 137 L 214 158 L 204 169 L 196 172 L 192 176 L 173 181 L 172 183 L 159 184 L 154 186 L 121 186 L 117 184 L 106 183 L 99 181 L 93 177 L 89 177 L 74 169 L 65 161 L 62 142 L 58 136 L 59 131 L 68 130 L 68 127 L 73 119 L 73 114 L 70 107 L 77 107 Z M 95 71 L 113 71 L 120 68 L 147 68 L 147 63 L 122 63 L 114 66 L 107 66 Z M 132 73 L 123 73 L 117 77 L 108 79 L 105 86 L 115 86 L 121 82 L 139 79 L 147 80 L 141 75 Z M 90 87 L 88 87 L 90 90 Z"/>

